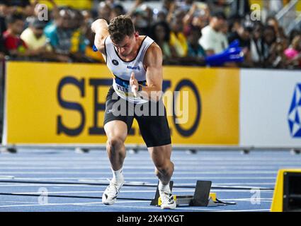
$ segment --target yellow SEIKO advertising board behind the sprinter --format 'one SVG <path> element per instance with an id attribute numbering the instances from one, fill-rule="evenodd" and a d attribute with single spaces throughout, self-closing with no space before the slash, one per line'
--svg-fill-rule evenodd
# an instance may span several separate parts
<path id="1" fill-rule="evenodd" d="M 106 143 L 111 84 L 105 65 L 8 62 L 4 143 Z M 163 88 L 173 144 L 239 143 L 239 69 L 166 66 Z M 144 144 L 132 128 L 126 143 Z"/>

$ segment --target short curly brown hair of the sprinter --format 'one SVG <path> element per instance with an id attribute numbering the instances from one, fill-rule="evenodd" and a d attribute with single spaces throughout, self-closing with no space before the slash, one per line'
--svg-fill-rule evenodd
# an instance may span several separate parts
<path id="1" fill-rule="evenodd" d="M 120 43 L 124 40 L 126 35 L 132 36 L 135 32 L 135 28 L 130 16 L 121 15 L 110 20 L 108 32 L 113 42 Z"/>

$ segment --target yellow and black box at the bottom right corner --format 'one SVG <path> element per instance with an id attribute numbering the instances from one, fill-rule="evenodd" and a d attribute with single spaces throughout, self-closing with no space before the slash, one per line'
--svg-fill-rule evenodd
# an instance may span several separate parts
<path id="1" fill-rule="evenodd" d="M 301 211 L 301 169 L 280 169 L 271 212 Z"/>

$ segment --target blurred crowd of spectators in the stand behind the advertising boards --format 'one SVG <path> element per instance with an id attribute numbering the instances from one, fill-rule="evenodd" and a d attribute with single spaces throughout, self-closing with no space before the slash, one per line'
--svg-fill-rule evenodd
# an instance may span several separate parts
<path id="1" fill-rule="evenodd" d="M 66 2 L 66 1 L 65 1 Z M 147 1 L 81 0 L 79 6 L 64 6 L 62 0 L 0 0 L 0 59 L 101 62 L 93 51 L 91 23 L 96 18 L 121 14 L 131 16 L 140 35 L 149 35 L 159 44 L 164 64 L 205 65 L 205 58 L 225 51 L 234 40 L 244 61 L 225 66 L 300 69 L 300 27 L 286 34 L 275 11 L 264 20 L 252 20 L 248 0 L 164 0 L 160 7 Z M 74 3 L 74 4 L 75 4 Z M 38 16 L 47 4 L 48 20 Z M 263 12 L 264 14 L 264 12 Z"/>

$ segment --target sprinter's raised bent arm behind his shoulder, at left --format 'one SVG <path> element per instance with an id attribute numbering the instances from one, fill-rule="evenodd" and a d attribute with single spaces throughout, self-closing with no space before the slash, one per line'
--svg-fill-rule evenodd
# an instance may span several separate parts
<path id="1" fill-rule="evenodd" d="M 105 51 L 105 40 L 108 37 L 108 23 L 106 20 L 98 19 L 95 20 L 91 25 L 91 30 L 95 33 L 94 44 L 98 51 L 102 54 L 106 54 Z"/>

